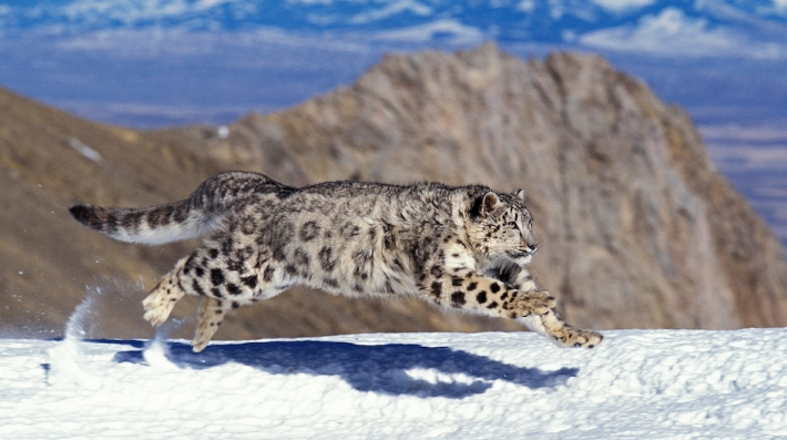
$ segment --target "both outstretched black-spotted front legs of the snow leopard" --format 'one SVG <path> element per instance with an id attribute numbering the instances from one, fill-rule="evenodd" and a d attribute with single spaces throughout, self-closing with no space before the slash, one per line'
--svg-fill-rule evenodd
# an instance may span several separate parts
<path id="1" fill-rule="evenodd" d="M 497 272 L 503 280 L 491 277 L 495 273 L 489 269 L 483 274 L 453 269 L 451 274 L 426 277 L 421 291 L 444 307 L 515 319 L 563 347 L 593 348 L 602 341 L 601 334 L 576 329 L 563 321 L 554 310 L 554 297 L 541 290 L 527 269 L 521 269 Z"/>

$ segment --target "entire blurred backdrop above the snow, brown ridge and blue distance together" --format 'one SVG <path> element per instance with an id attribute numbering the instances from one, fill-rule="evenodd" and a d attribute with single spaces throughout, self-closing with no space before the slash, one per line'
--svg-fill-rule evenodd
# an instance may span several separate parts
<path id="1" fill-rule="evenodd" d="M 58 335 L 85 295 L 94 336 L 152 335 L 142 291 L 194 243 L 114 243 L 65 208 L 229 168 L 523 186 L 578 325 L 787 321 L 784 1 L 0 2 L 0 59 L 3 335 Z M 287 293 L 218 337 L 513 328 Z"/>

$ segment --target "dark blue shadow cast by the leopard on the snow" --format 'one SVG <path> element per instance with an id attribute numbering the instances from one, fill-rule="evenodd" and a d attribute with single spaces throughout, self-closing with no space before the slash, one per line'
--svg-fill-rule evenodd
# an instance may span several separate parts
<path id="1" fill-rule="evenodd" d="M 144 365 L 144 348 L 139 348 L 115 354 L 114 361 Z M 578 368 L 542 371 L 517 367 L 448 347 L 415 344 L 242 342 L 212 345 L 198 354 L 181 342 L 170 342 L 168 348 L 167 358 L 181 368 L 236 362 L 273 375 L 339 376 L 358 391 L 395 396 L 463 398 L 487 391 L 494 380 L 531 389 L 554 388 L 579 372 Z"/>

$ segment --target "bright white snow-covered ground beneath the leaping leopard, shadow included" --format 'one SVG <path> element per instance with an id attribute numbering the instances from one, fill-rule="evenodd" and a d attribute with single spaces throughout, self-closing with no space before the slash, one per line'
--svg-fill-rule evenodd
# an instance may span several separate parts
<path id="1" fill-rule="evenodd" d="M 0 438 L 787 436 L 787 329 L 605 335 L 2 339 Z"/>

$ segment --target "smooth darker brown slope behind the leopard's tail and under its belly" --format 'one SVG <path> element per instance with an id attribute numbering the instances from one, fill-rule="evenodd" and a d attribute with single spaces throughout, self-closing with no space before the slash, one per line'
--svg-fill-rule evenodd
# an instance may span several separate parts
<path id="1" fill-rule="evenodd" d="M 152 337 L 142 319 L 144 293 L 196 243 L 114 242 L 78 225 L 68 207 L 167 203 L 232 168 L 262 170 L 227 147 L 214 129 L 137 132 L 0 90 L 0 337 L 62 336 L 83 300 L 89 307 L 79 319 L 89 337 Z M 196 305 L 194 298 L 178 304 L 173 316 L 185 323 L 171 326 L 171 336 L 193 335 Z M 443 315 L 416 300 L 346 300 L 296 289 L 265 307 L 237 311 L 218 338 L 517 328 L 503 320 Z"/>

